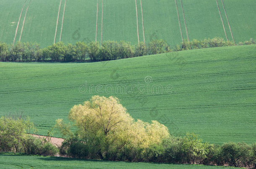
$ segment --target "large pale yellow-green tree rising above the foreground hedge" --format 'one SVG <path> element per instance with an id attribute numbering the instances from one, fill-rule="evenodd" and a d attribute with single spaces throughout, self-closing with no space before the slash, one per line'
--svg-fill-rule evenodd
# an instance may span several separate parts
<path id="1" fill-rule="evenodd" d="M 91 156 L 100 151 L 99 157 L 112 159 L 113 154 L 118 154 L 116 158 L 120 159 L 122 154 L 139 154 L 141 159 L 152 145 L 170 137 L 167 127 L 157 121 L 135 121 L 112 96 L 93 96 L 83 105 L 73 106 L 68 117 L 78 129 L 78 138 L 94 147 Z M 62 119 L 56 122 L 63 135 L 70 135 Z"/>

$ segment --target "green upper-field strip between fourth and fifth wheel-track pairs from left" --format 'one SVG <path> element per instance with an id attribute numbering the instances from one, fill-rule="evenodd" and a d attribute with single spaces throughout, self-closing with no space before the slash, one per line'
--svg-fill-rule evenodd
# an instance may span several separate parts
<path id="1" fill-rule="evenodd" d="M 175 1 L 143 1 L 146 43 L 152 39 L 164 39 L 171 46 L 182 41 Z"/>

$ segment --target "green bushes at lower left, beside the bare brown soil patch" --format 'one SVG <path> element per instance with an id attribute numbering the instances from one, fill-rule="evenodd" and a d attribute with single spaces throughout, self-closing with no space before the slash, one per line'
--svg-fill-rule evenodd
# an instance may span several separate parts
<path id="1" fill-rule="evenodd" d="M 34 124 L 29 119 L 0 118 L 0 152 L 16 152 L 55 156 L 59 150 L 49 139 L 39 139 L 29 135 Z"/>

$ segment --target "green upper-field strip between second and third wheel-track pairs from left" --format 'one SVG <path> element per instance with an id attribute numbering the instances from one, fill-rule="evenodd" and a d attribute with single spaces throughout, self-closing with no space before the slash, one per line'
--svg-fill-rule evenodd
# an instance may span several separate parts
<path id="1" fill-rule="evenodd" d="M 97 0 L 68 0 L 64 15 L 62 41 L 68 43 L 94 41 L 96 14 Z"/>

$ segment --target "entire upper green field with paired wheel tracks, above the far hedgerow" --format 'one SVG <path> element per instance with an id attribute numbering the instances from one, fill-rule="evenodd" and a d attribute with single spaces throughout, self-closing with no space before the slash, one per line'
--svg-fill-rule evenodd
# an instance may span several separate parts
<path id="1" fill-rule="evenodd" d="M 173 46 L 227 35 L 238 43 L 256 38 L 255 6 L 255 0 L 0 0 L 0 41 L 45 47 L 157 38 Z"/>

